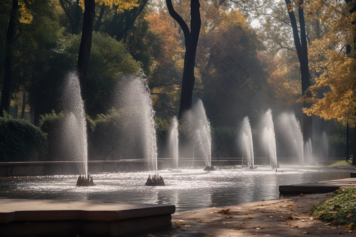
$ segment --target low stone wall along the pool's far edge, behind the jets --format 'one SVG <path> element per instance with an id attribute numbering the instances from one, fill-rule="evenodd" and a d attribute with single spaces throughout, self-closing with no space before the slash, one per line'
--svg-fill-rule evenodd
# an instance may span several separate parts
<path id="1" fill-rule="evenodd" d="M 328 164 L 343 157 L 327 158 L 316 164 Z M 280 164 L 298 164 L 298 160 L 288 157 L 278 158 Z M 255 165 L 268 165 L 267 158 L 256 157 Z M 147 170 L 149 162 L 146 160 L 118 160 L 118 161 L 88 161 L 88 172 L 99 174 L 103 172 L 137 172 Z M 241 165 L 242 158 L 212 158 L 213 166 Z M 0 177 L 8 176 L 46 176 L 46 175 L 79 175 L 81 162 L 76 161 L 47 161 L 47 162 L 0 162 Z M 205 166 L 201 158 L 180 158 L 179 167 Z M 175 161 L 169 158 L 158 159 L 158 170 L 174 169 Z"/>

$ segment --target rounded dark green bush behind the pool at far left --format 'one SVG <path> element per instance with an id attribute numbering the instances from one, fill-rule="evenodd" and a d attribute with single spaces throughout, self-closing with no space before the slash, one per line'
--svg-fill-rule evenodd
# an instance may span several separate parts
<path id="1" fill-rule="evenodd" d="M 46 154 L 45 134 L 23 119 L 13 119 L 4 111 L 0 117 L 0 161 L 39 161 Z"/>

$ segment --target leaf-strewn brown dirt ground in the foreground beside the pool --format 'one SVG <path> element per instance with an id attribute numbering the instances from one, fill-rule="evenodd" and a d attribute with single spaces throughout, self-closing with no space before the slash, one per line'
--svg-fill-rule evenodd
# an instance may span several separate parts
<path id="1" fill-rule="evenodd" d="M 172 227 L 127 236 L 356 236 L 343 226 L 333 226 L 308 214 L 325 195 L 328 194 L 174 213 Z"/>

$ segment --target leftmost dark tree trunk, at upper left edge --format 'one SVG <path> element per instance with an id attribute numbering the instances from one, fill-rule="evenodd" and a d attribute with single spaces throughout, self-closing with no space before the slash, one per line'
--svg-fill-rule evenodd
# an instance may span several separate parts
<path id="1" fill-rule="evenodd" d="M 18 8 L 18 0 L 13 0 L 11 12 L 10 12 L 8 31 L 6 33 L 4 83 L 3 83 L 3 91 L 1 93 L 0 116 L 3 116 L 4 110 L 7 113 L 9 113 L 9 108 L 10 108 L 12 43 L 14 43 L 15 16 L 16 16 L 17 8 Z"/>

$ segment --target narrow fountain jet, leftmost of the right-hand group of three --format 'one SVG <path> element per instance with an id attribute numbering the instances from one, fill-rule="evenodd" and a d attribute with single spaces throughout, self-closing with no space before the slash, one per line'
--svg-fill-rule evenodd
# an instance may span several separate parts
<path id="1" fill-rule="evenodd" d="M 253 142 L 249 117 L 245 117 L 240 128 L 240 146 L 243 151 L 243 158 L 247 159 L 247 165 L 253 167 Z M 244 162 L 243 162 L 244 163 Z"/>

